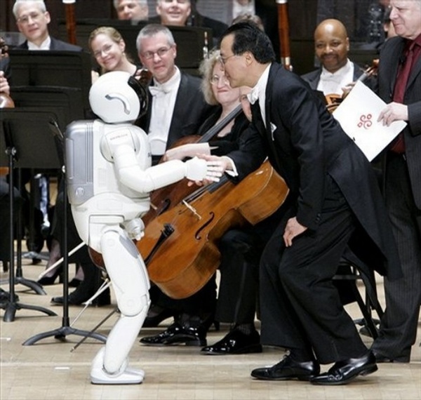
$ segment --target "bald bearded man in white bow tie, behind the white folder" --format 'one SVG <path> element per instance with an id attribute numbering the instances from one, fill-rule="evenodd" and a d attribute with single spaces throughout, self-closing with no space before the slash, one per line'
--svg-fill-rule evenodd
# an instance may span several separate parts
<path id="1" fill-rule="evenodd" d="M 314 31 L 314 51 L 321 63 L 316 71 L 302 75 L 302 79 L 324 95 L 342 95 L 363 70 L 348 58 L 349 38 L 345 25 L 339 20 L 323 20 Z"/>

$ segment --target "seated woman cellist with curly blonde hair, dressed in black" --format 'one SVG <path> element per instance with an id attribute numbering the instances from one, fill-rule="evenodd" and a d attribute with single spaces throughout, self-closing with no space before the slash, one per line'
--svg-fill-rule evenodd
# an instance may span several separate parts
<path id="1" fill-rule="evenodd" d="M 201 65 L 202 90 L 209 104 L 218 104 L 217 111 L 201 126 L 208 131 L 233 112 L 246 99 L 249 88 L 232 89 L 229 86 L 218 60 L 219 51 L 210 53 L 210 58 Z M 246 101 L 249 118 L 249 103 Z M 166 160 L 184 159 L 195 154 L 227 154 L 239 146 L 241 134 L 248 128 L 248 119 L 241 112 L 210 142 L 191 143 L 168 149 Z M 270 218 L 255 227 L 230 229 L 218 246 L 221 253 L 220 289 L 215 305 L 215 314 L 203 313 L 203 302 L 210 304 L 215 279 L 211 279 L 198 293 L 183 300 L 173 300 L 161 294 L 154 306 L 175 309 L 179 314 L 175 322 L 158 335 L 140 340 L 145 345 L 206 345 L 206 333 L 213 322 L 232 324 L 229 333 L 215 345 L 203 347 L 202 354 L 243 354 L 261 352 L 260 335 L 255 328 L 255 312 L 258 295 L 258 265 L 260 252 L 270 234 Z"/>

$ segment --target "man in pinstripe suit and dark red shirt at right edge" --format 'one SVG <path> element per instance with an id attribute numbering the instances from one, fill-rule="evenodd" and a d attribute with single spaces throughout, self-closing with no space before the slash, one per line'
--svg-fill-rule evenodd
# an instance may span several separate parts
<path id="1" fill-rule="evenodd" d="M 403 278 L 385 279 L 385 315 L 371 348 L 377 361 L 409 362 L 421 302 L 421 2 L 390 5 L 399 36 L 380 52 L 378 93 L 388 103 L 380 114 L 384 124 L 408 123 L 385 154 L 385 199 Z"/>

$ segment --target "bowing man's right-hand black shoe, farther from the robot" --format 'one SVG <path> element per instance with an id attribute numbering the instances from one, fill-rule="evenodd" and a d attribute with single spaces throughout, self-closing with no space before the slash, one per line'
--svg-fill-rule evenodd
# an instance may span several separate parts
<path id="1" fill-rule="evenodd" d="M 310 382 L 314 385 L 345 385 L 358 375 L 368 375 L 375 371 L 377 371 L 375 356 L 373 352 L 368 352 L 358 359 L 336 362 L 328 372 L 321 373 Z"/>

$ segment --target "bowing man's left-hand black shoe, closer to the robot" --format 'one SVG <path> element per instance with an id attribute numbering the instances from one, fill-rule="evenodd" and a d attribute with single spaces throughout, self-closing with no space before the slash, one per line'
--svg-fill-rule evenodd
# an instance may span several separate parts
<path id="1" fill-rule="evenodd" d="M 320 366 L 317 361 L 299 362 L 285 356 L 272 367 L 253 369 L 251 376 L 261 380 L 310 380 L 319 373 Z"/>

